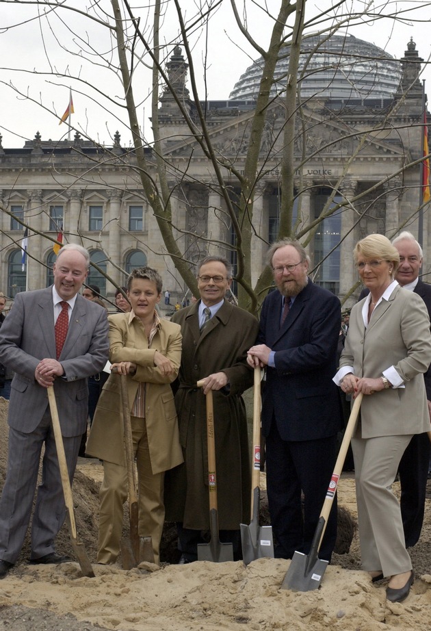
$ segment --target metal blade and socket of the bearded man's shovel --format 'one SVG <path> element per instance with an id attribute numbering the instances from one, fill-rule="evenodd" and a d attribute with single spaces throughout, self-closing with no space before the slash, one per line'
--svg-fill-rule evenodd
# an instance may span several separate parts
<path id="1" fill-rule="evenodd" d="M 250 525 L 240 524 L 242 558 L 245 565 L 257 558 L 274 558 L 274 539 L 272 526 L 259 526 L 259 506 L 261 489 L 256 487 L 253 491 L 253 515 Z"/>

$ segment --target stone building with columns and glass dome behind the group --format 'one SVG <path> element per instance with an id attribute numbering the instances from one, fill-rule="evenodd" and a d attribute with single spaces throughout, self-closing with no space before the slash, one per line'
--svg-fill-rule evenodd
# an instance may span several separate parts
<path id="1" fill-rule="evenodd" d="M 319 76 L 313 68 L 304 79 L 306 98 L 297 114 L 298 133 L 293 140 L 298 164 L 293 206 L 296 233 L 322 214 L 326 216 L 302 240 L 311 257 L 315 281 L 341 297 L 352 290 L 358 278 L 352 259 L 354 244 L 371 232 L 392 237 L 400 227 L 412 231 L 423 245 L 423 272 L 431 269 L 430 218 L 427 205 L 421 206 L 424 100 L 419 71 L 423 60 L 413 40 L 400 62 L 387 60 L 386 55 L 386 63 L 376 63 L 378 53 L 373 47 L 371 55 L 371 44 L 356 38 L 343 40 L 343 51 L 349 53 L 349 42 L 352 50 L 345 62 L 337 64 L 341 74 L 331 71 L 335 62 L 326 50 L 320 57 L 323 74 Z M 340 45 L 335 38 L 332 56 L 338 60 Z M 315 42 L 309 40 L 307 46 L 313 47 Z M 308 49 L 305 54 L 309 54 Z M 355 55 L 362 55 L 361 65 L 352 64 Z M 367 59 L 371 61 L 367 63 Z M 248 75 L 241 76 L 232 93 L 235 99 L 205 103 L 213 149 L 239 171 L 244 168 L 250 140 L 253 90 L 259 75 L 256 68 L 258 62 L 250 66 Z M 282 70 L 267 112 L 261 146 L 264 168 L 255 185 L 253 283 L 265 266 L 267 246 L 278 233 L 280 156 L 286 121 Z M 179 46 L 167 72 L 187 113 L 198 120 L 196 105 L 187 91 L 187 64 Z M 207 253 L 221 253 L 235 263 L 229 248 L 233 231 L 220 185 L 168 90 L 161 96 L 159 125 L 169 162 L 172 224 L 187 260 L 193 264 Z M 112 147 L 101 147 L 78 133 L 72 142 L 45 141 L 37 133 L 22 149 L 8 149 L 1 146 L 0 137 L 0 290 L 5 294 L 13 298 L 18 291 L 51 283 L 53 240 L 59 233 L 64 242 L 80 243 L 90 250 L 94 265 L 88 283 L 99 285 L 108 298 L 114 295 L 116 285 L 125 283 L 132 268 L 145 264 L 161 272 L 164 289 L 170 290 L 173 301 L 187 294 L 161 240 L 135 155 L 122 147 L 120 140 L 117 133 Z M 151 147 L 146 149 L 146 157 L 156 178 Z M 417 164 L 405 168 L 415 161 Z M 239 194 L 235 178 L 227 172 L 226 186 L 233 198 Z M 345 205 L 330 214 L 330 207 L 340 202 Z M 20 220 L 30 227 L 24 266 L 24 226 Z M 357 294 L 352 294 L 348 305 Z"/>

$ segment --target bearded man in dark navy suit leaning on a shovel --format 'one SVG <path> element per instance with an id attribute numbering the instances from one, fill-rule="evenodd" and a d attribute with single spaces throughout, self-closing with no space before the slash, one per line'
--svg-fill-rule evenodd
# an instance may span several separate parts
<path id="1" fill-rule="evenodd" d="M 277 290 L 263 301 L 248 363 L 266 368 L 262 433 L 274 554 L 292 558 L 296 551 L 310 551 L 337 456 L 341 406 L 332 377 L 341 305 L 309 279 L 309 258 L 298 241 L 272 244 L 267 261 Z M 330 561 L 336 539 L 337 498 L 320 558 Z"/>

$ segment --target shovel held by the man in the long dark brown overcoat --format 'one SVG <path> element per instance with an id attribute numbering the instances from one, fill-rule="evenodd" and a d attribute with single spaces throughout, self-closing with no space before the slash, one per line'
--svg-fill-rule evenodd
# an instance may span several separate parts
<path id="1" fill-rule="evenodd" d="M 203 387 L 204 381 L 198 381 L 198 388 Z M 217 511 L 217 476 L 215 474 L 215 441 L 214 441 L 214 412 L 213 391 L 207 393 L 207 441 L 208 441 L 208 489 L 209 489 L 209 543 L 198 543 L 198 561 L 213 561 L 224 563 L 233 561 L 232 543 L 222 543 L 218 537 Z"/>

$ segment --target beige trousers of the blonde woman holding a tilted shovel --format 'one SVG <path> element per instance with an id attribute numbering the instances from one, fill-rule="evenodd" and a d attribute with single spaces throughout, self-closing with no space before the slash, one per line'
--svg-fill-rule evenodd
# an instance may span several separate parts
<path id="1" fill-rule="evenodd" d="M 412 435 L 352 439 L 361 561 L 384 576 L 412 569 L 404 543 L 400 504 L 391 490 Z"/>

